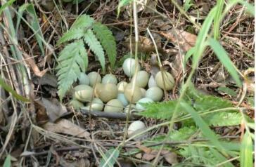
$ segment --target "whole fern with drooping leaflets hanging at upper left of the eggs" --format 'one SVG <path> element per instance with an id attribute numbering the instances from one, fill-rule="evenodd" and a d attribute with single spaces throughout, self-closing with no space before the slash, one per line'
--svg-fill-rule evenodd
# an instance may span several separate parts
<path id="1" fill-rule="evenodd" d="M 94 30 L 94 32 L 92 31 Z M 95 34 L 94 34 L 95 33 Z M 88 66 L 87 50 L 84 44 L 96 55 L 103 71 L 105 70 L 105 49 L 111 67 L 115 65 L 117 55 L 115 38 L 108 27 L 95 22 L 89 15 L 81 15 L 68 32 L 58 40 L 58 45 L 72 41 L 60 52 L 58 62 L 58 95 L 60 100 L 77 81 L 80 72 L 85 72 Z M 100 43 L 101 42 L 101 43 Z"/>

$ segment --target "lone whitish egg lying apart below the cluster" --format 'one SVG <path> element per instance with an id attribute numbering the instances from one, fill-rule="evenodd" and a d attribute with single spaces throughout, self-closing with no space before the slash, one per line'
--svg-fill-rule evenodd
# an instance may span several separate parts
<path id="1" fill-rule="evenodd" d="M 131 138 L 132 136 L 141 133 L 146 129 L 146 125 L 143 123 L 143 121 L 134 121 L 129 125 L 128 128 L 128 137 Z M 143 134 L 136 137 L 136 139 L 142 138 Z"/>

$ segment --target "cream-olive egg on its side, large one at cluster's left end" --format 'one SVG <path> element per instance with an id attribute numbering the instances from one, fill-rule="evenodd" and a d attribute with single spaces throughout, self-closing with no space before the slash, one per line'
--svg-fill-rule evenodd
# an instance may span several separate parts
<path id="1" fill-rule="evenodd" d="M 88 85 L 75 86 L 74 91 L 75 99 L 81 102 L 89 102 L 94 93 L 94 89 Z"/>

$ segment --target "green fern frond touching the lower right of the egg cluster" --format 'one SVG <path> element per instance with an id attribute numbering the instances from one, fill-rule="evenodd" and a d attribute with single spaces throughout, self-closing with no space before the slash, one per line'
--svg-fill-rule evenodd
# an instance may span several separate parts
<path id="1" fill-rule="evenodd" d="M 176 107 L 176 105 L 177 100 L 143 104 L 143 106 L 146 107 L 146 111 L 139 112 L 138 114 L 141 116 L 145 116 L 146 118 L 167 120 L 172 118 L 172 113 L 174 112 L 174 108 Z M 182 114 L 180 108 L 179 111 L 179 114 Z"/>

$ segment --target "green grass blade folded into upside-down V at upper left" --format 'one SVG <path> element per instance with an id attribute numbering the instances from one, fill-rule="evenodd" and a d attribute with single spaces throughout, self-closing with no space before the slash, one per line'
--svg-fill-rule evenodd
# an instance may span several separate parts
<path id="1" fill-rule="evenodd" d="M 34 35 L 36 36 L 39 48 L 41 50 L 41 53 L 44 55 L 44 46 L 41 39 L 44 39 L 43 33 L 41 32 L 41 27 L 39 25 L 39 21 L 37 18 L 37 13 L 34 10 L 33 4 L 23 4 L 20 6 L 18 10 L 18 17 L 17 17 L 17 24 L 16 24 L 16 32 L 18 32 L 18 25 L 20 25 L 20 19 L 23 15 L 23 12 L 27 11 L 27 13 L 30 15 L 30 19 L 27 21 L 30 22 L 30 25 L 32 27 L 32 31 L 34 32 Z"/>

